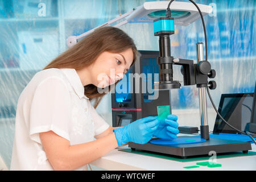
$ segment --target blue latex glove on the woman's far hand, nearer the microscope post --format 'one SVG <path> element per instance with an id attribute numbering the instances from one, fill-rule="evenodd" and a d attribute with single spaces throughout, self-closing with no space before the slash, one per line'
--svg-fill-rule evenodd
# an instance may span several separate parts
<path id="1" fill-rule="evenodd" d="M 177 116 L 174 114 L 167 115 L 167 119 L 160 120 L 158 129 L 153 136 L 161 139 L 175 139 L 179 133 L 178 126 Z"/>

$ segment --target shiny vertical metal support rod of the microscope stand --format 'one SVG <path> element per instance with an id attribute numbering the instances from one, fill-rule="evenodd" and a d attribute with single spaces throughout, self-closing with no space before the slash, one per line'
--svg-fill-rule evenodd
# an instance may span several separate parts
<path id="1" fill-rule="evenodd" d="M 204 47 L 203 43 L 196 44 L 197 63 L 204 60 Z M 199 109 L 200 109 L 200 133 L 201 138 L 209 139 L 209 126 L 207 114 L 207 90 L 205 87 L 199 88 Z"/>

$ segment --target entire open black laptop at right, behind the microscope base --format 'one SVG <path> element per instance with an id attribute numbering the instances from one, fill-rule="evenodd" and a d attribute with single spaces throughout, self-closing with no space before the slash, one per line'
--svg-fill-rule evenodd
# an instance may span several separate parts
<path id="1" fill-rule="evenodd" d="M 255 90 L 254 93 L 222 94 L 218 112 L 236 129 L 256 134 L 255 97 Z M 247 135 L 240 134 L 226 125 L 218 115 L 216 116 L 211 137 L 251 141 Z"/>

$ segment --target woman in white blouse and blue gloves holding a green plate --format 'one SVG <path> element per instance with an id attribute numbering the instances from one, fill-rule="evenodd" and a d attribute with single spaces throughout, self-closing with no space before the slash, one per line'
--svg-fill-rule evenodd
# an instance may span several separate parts
<path id="1" fill-rule="evenodd" d="M 86 164 L 127 142 L 175 138 L 175 115 L 166 122 L 146 117 L 113 128 L 96 113 L 106 94 L 99 88 L 110 91 L 134 64 L 136 53 L 125 32 L 103 27 L 36 73 L 18 100 L 11 169 L 86 170 Z"/>

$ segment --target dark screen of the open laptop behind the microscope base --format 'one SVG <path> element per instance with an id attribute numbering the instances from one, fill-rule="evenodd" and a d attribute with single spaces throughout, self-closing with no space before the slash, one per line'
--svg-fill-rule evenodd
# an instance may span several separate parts
<path id="1" fill-rule="evenodd" d="M 244 131 L 246 123 L 251 121 L 254 93 L 222 94 L 218 112 L 233 127 Z M 237 133 L 226 125 L 220 117 L 216 117 L 213 133 Z"/>

